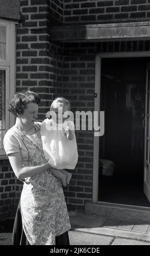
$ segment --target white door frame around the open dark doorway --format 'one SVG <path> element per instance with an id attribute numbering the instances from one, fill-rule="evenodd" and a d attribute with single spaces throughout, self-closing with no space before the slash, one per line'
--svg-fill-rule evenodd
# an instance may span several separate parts
<path id="1" fill-rule="evenodd" d="M 150 51 L 146 52 L 104 52 L 98 53 L 95 59 L 95 111 L 100 111 L 101 96 L 101 59 L 102 58 L 137 58 L 150 57 Z M 98 172 L 99 172 L 99 137 L 93 137 L 93 184 L 92 201 L 98 202 Z"/>

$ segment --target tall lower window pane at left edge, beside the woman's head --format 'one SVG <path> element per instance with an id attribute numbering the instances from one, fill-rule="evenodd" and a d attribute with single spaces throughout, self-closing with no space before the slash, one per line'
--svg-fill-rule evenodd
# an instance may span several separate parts
<path id="1" fill-rule="evenodd" d="M 5 135 L 5 70 L 0 70 L 0 149 Z"/>

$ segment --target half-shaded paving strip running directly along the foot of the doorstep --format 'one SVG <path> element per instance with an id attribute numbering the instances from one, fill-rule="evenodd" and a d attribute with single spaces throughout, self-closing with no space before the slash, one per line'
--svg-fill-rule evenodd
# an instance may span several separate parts
<path id="1" fill-rule="evenodd" d="M 70 216 L 72 229 L 91 234 L 116 236 L 150 242 L 149 223 L 86 214 Z"/>

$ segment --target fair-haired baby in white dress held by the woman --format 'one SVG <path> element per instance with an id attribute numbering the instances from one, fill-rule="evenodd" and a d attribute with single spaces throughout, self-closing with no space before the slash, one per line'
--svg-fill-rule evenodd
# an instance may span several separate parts
<path id="1" fill-rule="evenodd" d="M 64 187 L 69 184 L 72 176 L 64 169 L 74 169 L 78 161 L 74 123 L 66 120 L 66 111 L 70 111 L 70 103 L 58 97 L 51 105 L 52 118 L 45 119 L 41 125 L 43 153 L 48 163 L 55 168 L 52 174 L 61 180 Z"/>

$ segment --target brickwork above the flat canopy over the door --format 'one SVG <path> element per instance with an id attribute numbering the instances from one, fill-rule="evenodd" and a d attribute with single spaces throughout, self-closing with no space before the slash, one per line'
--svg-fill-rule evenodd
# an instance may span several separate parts
<path id="1" fill-rule="evenodd" d="M 149 0 L 64 0 L 66 24 L 132 22 L 149 19 Z"/>

